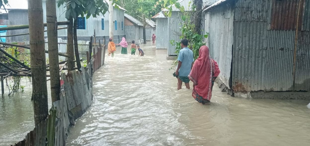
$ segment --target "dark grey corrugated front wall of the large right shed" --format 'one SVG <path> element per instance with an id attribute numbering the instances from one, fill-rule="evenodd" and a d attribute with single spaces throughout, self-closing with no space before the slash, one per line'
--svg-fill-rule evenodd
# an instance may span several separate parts
<path id="1" fill-rule="evenodd" d="M 310 91 L 310 32 L 299 31 L 294 79 L 297 19 L 286 19 L 284 25 L 279 21 L 284 21 L 290 11 L 296 11 L 293 8 L 298 7 L 298 3 L 282 0 L 274 6 L 275 1 L 236 1 L 232 55 L 234 91 Z M 288 5 L 292 10 L 282 10 Z M 303 11 L 307 10 L 305 5 Z"/>

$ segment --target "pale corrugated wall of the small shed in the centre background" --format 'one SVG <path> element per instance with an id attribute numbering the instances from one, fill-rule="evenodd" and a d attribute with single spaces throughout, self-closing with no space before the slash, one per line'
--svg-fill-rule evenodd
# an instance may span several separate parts
<path id="1" fill-rule="evenodd" d="M 168 18 L 157 18 L 156 24 L 156 49 L 168 49 Z"/>

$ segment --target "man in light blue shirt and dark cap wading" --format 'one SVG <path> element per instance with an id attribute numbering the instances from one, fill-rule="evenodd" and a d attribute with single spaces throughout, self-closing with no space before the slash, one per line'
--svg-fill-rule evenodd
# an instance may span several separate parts
<path id="1" fill-rule="evenodd" d="M 191 49 L 187 47 L 188 40 L 183 39 L 181 41 L 181 50 L 178 57 L 178 67 L 175 71 L 175 75 L 178 77 L 178 90 L 182 89 L 182 83 L 185 83 L 187 89 L 189 87 L 189 78 L 188 75 L 191 72 L 194 62 L 194 54 Z"/>

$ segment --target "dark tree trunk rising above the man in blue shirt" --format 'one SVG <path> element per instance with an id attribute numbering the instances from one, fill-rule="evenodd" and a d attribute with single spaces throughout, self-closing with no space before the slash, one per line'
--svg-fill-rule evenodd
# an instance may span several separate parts
<path id="1" fill-rule="evenodd" d="M 194 18 L 195 31 L 201 34 L 201 22 L 202 22 L 202 0 L 194 0 L 196 5 L 196 14 Z"/>

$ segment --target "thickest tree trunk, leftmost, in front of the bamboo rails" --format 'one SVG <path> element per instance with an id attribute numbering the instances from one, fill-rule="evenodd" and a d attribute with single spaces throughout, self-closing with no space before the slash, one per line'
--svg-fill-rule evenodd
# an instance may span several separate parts
<path id="1" fill-rule="evenodd" d="M 42 0 L 28 0 L 28 19 L 34 123 L 37 126 L 48 116 Z"/>

